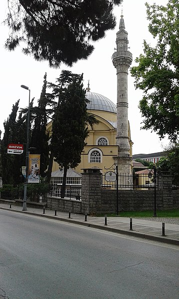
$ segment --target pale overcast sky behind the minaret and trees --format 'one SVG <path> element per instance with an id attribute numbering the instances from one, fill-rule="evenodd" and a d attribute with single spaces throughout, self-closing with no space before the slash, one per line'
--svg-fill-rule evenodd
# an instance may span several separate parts
<path id="1" fill-rule="evenodd" d="M 154 1 L 148 0 L 149 4 Z M 166 0 L 156 0 L 158 5 L 166 4 Z M 135 58 L 142 53 L 143 40 L 151 42 L 151 35 L 148 33 L 148 21 L 146 20 L 146 8 L 143 0 L 123 0 L 123 18 L 125 30 L 128 32 L 129 51 L 132 53 L 135 65 Z M 33 57 L 21 53 L 20 47 L 14 52 L 4 49 L 4 43 L 8 36 L 8 29 L 2 21 L 7 13 L 7 0 L 0 0 L 0 130 L 4 132 L 3 122 L 11 112 L 12 105 L 18 100 L 19 107 L 28 105 L 28 91 L 20 88 L 26 85 L 30 89 L 31 98 L 38 100 L 43 85 L 43 76 L 47 73 L 47 81 L 55 83 L 61 70 L 70 70 L 73 73 L 83 73 L 83 85 L 86 88 L 89 80 L 91 92 L 101 94 L 116 104 L 116 70 L 112 64 L 111 56 L 115 52 L 116 32 L 119 27 L 121 7 L 114 9 L 117 19 L 116 28 L 106 33 L 104 39 L 94 44 L 94 51 L 86 61 L 79 61 L 72 68 L 61 65 L 60 69 L 51 69 L 47 62 L 36 62 Z M 142 92 L 135 90 L 133 78 L 128 75 L 128 120 L 130 123 L 131 140 L 133 141 L 133 154 L 154 153 L 163 150 L 168 144 L 167 138 L 159 140 L 156 133 L 150 130 L 140 130 L 141 115 L 138 109 L 138 102 Z M 36 102 L 34 102 L 36 105 Z M 3 137 L 3 133 L 1 138 Z"/>

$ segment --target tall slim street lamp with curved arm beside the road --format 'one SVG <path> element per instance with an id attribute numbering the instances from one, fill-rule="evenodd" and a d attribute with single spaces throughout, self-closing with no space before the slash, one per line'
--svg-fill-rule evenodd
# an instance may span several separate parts
<path id="1" fill-rule="evenodd" d="M 28 181 L 28 143 L 29 143 L 29 124 L 30 124 L 30 90 L 25 85 L 20 85 L 20 87 L 29 91 L 28 96 L 28 112 L 27 112 L 27 128 L 26 128 L 26 157 L 25 157 L 25 182 L 24 182 L 24 191 L 23 191 L 23 206 L 22 211 L 26 211 L 26 187 Z"/>

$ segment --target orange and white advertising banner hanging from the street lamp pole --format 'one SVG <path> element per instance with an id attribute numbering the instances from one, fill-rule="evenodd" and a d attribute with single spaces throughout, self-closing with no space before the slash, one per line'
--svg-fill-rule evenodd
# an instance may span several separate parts
<path id="1" fill-rule="evenodd" d="M 28 183 L 39 183 L 40 155 L 29 154 L 28 157 Z"/>

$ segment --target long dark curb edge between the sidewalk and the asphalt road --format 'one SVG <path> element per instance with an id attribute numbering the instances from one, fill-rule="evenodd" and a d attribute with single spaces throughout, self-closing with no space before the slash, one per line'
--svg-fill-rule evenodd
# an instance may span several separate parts
<path id="1" fill-rule="evenodd" d="M 90 222 L 81 222 L 78 220 L 73 220 L 72 218 L 60 218 L 60 217 L 55 217 L 55 216 L 50 216 L 50 215 L 45 215 L 45 214 L 37 214 L 37 213 L 32 213 L 32 212 L 27 212 L 27 211 L 18 211 L 18 210 L 13 210 L 13 209 L 4 208 L 4 207 L 0 207 L 0 209 L 17 212 L 17 213 L 28 214 L 28 215 L 36 215 L 36 216 L 45 217 L 45 218 L 49 218 L 49 219 L 55 219 L 55 220 L 64 221 L 64 222 L 76 223 L 76 224 L 83 225 L 83 226 L 88 226 L 88 227 L 97 228 L 97 229 L 101 229 L 101 230 L 130 235 L 130 236 L 134 236 L 134 237 L 138 237 L 138 238 L 142 238 L 142 239 L 148 239 L 148 240 L 153 240 L 153 241 L 172 244 L 172 245 L 179 245 L 178 239 L 171 239 L 171 238 L 166 238 L 166 237 L 162 237 L 162 236 L 154 236 L 154 235 L 150 235 L 150 234 L 136 232 L 133 230 L 124 230 L 124 229 L 119 229 L 119 228 L 114 228 L 114 227 L 109 227 L 109 226 L 107 227 L 107 226 L 102 226 L 102 225 L 98 225 L 98 224 L 93 224 Z"/>

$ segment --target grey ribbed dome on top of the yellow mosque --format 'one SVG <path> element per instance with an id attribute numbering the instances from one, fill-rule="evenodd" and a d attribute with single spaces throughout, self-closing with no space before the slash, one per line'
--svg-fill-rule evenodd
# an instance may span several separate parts
<path id="1" fill-rule="evenodd" d="M 87 104 L 87 110 L 100 110 L 117 113 L 116 105 L 104 96 L 94 92 L 86 91 L 86 98 L 90 101 Z"/>

